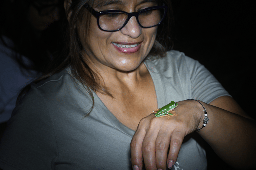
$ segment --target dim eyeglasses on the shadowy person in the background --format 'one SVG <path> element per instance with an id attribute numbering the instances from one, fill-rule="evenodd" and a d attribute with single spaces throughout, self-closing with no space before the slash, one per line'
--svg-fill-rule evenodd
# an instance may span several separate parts
<path id="1" fill-rule="evenodd" d="M 37 3 L 32 2 L 31 5 L 38 11 L 39 15 L 45 16 L 53 12 L 57 7 L 59 7 L 60 3 L 49 4 L 49 5 L 39 5 Z"/>

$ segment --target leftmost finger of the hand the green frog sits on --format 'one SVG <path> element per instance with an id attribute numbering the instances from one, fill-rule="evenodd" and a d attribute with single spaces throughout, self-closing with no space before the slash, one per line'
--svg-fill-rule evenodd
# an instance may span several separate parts
<path id="1" fill-rule="evenodd" d="M 146 134 L 145 129 L 139 128 L 138 126 L 131 140 L 131 144 L 130 144 L 131 164 L 134 170 L 142 170 L 142 166 L 143 166 L 142 142 L 145 134 Z"/>

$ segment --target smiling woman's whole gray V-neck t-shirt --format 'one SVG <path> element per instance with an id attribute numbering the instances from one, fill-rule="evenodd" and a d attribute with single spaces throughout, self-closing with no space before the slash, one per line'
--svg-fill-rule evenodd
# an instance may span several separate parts
<path id="1" fill-rule="evenodd" d="M 158 108 L 185 99 L 206 103 L 229 95 L 198 61 L 178 51 L 145 60 L 152 76 Z M 9 120 L 1 140 L 4 170 L 130 170 L 130 142 L 134 131 L 121 124 L 67 68 L 32 86 Z M 149 113 L 150 114 L 150 113 Z M 210 114 L 210 113 L 209 113 Z M 206 154 L 197 133 L 185 137 L 172 170 L 206 170 Z"/>

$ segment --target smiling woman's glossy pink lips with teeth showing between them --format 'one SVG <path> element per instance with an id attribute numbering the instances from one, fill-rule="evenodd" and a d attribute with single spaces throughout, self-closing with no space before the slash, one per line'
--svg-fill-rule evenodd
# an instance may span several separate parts
<path id="1" fill-rule="evenodd" d="M 140 49 L 141 42 L 112 42 L 113 46 L 122 53 L 135 53 Z"/>

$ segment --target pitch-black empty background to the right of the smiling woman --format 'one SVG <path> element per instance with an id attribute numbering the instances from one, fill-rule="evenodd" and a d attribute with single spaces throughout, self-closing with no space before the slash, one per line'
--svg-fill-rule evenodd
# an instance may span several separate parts
<path id="1" fill-rule="evenodd" d="M 171 2 L 173 49 L 205 65 L 243 110 L 256 119 L 254 1 Z M 206 149 L 209 170 L 232 169 L 208 145 Z"/>

